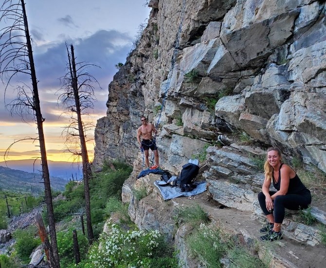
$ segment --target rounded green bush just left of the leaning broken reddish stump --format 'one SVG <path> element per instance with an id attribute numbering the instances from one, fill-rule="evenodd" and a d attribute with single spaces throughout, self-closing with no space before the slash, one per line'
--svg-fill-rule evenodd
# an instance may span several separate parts
<path id="1" fill-rule="evenodd" d="M 13 233 L 13 236 L 16 239 L 14 248 L 16 249 L 18 258 L 22 262 L 27 263 L 33 249 L 41 244 L 41 240 L 38 237 L 35 237 L 35 233 L 35 227 L 29 227 L 27 230 L 17 229 Z"/>

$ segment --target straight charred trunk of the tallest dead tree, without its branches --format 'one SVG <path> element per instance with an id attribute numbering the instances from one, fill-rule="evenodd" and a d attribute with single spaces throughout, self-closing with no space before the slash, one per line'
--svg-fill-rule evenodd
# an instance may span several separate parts
<path id="1" fill-rule="evenodd" d="M 53 211 L 53 204 L 52 204 L 50 174 L 49 174 L 44 132 L 43 132 L 43 122 L 45 119 L 42 117 L 41 114 L 40 101 L 39 101 L 38 89 L 37 89 L 36 71 L 35 71 L 34 58 L 33 58 L 33 50 L 32 50 L 29 29 L 28 29 L 28 22 L 27 22 L 24 0 L 21 0 L 21 7 L 23 11 L 26 46 L 28 51 L 32 86 L 33 86 L 33 99 L 34 99 L 34 106 L 35 106 L 34 108 L 35 108 L 36 124 L 37 124 L 37 131 L 38 131 L 39 147 L 41 153 L 42 178 L 44 181 L 45 202 L 46 202 L 46 207 L 47 207 L 48 217 L 49 217 L 49 230 L 50 230 L 51 248 L 53 254 L 53 259 L 51 260 L 51 268 L 60 268 L 59 252 L 57 248 L 56 232 L 55 232 L 55 224 L 54 224 L 54 211 Z"/>

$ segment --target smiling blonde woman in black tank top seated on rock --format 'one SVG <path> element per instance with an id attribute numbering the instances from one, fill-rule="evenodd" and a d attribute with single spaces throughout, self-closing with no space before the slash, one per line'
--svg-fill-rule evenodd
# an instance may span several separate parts
<path id="1" fill-rule="evenodd" d="M 271 147 L 267 150 L 264 170 L 265 180 L 262 191 L 258 193 L 258 201 L 268 223 L 266 227 L 260 229 L 261 233 L 266 233 L 260 239 L 274 241 L 283 238 L 281 225 L 285 209 L 308 208 L 311 194 L 298 175 L 288 165 L 282 163 L 282 154 L 278 148 Z M 270 191 L 272 183 L 277 191 Z"/>

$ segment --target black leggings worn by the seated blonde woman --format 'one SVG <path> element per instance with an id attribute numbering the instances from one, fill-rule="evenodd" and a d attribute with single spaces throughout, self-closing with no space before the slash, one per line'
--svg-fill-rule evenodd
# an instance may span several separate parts
<path id="1" fill-rule="evenodd" d="M 270 191 L 270 195 L 276 191 Z M 311 203 L 311 194 L 308 191 L 305 194 L 290 193 L 286 195 L 278 195 L 273 200 L 274 210 L 268 211 L 266 208 L 266 197 L 261 191 L 258 193 L 259 205 L 265 215 L 274 214 L 274 222 L 282 223 L 284 220 L 285 209 L 297 211 L 299 209 L 307 209 Z"/>

